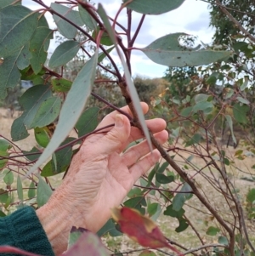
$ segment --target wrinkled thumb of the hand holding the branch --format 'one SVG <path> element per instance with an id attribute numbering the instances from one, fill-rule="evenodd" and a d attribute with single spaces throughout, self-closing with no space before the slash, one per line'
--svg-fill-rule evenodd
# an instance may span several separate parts
<path id="1" fill-rule="evenodd" d="M 128 118 L 124 115 L 116 114 L 114 128 L 99 139 L 96 144 L 98 154 L 110 155 L 115 151 L 121 152 L 127 144 L 130 130 Z"/>

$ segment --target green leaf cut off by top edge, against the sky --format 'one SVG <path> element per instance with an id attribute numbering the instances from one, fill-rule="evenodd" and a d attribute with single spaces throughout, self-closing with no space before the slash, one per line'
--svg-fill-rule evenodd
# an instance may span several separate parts
<path id="1" fill-rule="evenodd" d="M 128 0 L 124 0 L 127 3 Z M 128 9 L 141 14 L 165 14 L 173 9 L 178 9 L 184 3 L 184 0 L 171 0 L 166 2 L 165 0 L 133 0 L 127 4 Z"/>

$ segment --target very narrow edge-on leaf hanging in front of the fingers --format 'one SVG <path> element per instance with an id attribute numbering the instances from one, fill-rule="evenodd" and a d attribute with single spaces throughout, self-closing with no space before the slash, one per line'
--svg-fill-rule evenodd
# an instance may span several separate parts
<path id="1" fill-rule="evenodd" d="M 100 4 L 100 3 L 99 3 L 99 8 L 98 8 L 98 14 L 99 14 L 100 18 L 103 20 L 105 28 L 109 34 L 109 37 L 111 37 L 111 41 L 114 43 L 114 45 L 116 47 L 117 54 L 119 55 L 119 57 L 122 61 L 122 65 L 124 68 L 124 74 L 125 74 L 125 78 L 126 78 L 126 82 L 127 82 L 127 87 L 129 88 L 130 97 L 133 100 L 133 106 L 134 106 L 134 109 L 137 112 L 137 115 L 139 117 L 139 122 L 143 129 L 144 136 L 147 139 L 148 144 L 150 146 L 150 151 L 152 151 L 152 143 L 150 140 L 150 134 L 149 134 L 147 125 L 145 123 L 144 113 L 143 113 L 142 107 L 140 105 L 139 95 L 137 93 L 136 88 L 133 85 L 133 81 L 131 79 L 130 72 L 128 71 L 126 61 L 124 60 L 122 52 L 120 51 L 120 49 L 118 48 L 118 45 L 116 43 L 115 32 L 112 30 L 111 23 L 108 20 L 107 14 L 105 13 L 105 9 L 103 8 L 102 4 Z"/>

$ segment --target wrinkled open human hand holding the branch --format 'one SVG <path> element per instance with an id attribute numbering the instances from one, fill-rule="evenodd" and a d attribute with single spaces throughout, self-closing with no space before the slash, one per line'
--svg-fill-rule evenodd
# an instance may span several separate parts
<path id="1" fill-rule="evenodd" d="M 147 112 L 148 105 L 141 105 L 144 113 Z M 122 110 L 132 115 L 127 106 Z M 110 218 L 111 208 L 120 205 L 139 177 L 160 158 L 157 150 L 150 153 L 146 140 L 122 153 L 127 145 L 144 136 L 138 128 L 130 126 L 127 117 L 116 111 L 106 116 L 98 128 L 111 123 L 115 123 L 115 127 L 108 133 L 93 134 L 85 139 L 80 151 L 73 157 L 62 185 L 49 202 L 38 210 L 38 216 L 42 216 L 43 211 L 53 212 L 57 208 L 58 213 L 63 215 L 61 218 L 65 219 L 65 225 L 59 219 L 57 229 L 62 226 L 69 232 L 71 226 L 76 225 L 98 231 Z M 148 120 L 146 123 L 161 144 L 167 140 L 168 134 L 164 130 L 166 122 L 163 119 Z M 52 218 L 56 219 L 54 215 Z M 47 233 L 45 225 L 43 227 Z M 49 230 L 54 229 L 51 227 Z"/>

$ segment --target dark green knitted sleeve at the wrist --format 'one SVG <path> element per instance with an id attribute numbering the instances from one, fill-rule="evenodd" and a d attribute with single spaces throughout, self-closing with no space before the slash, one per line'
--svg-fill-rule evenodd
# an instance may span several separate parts
<path id="1" fill-rule="evenodd" d="M 31 253 L 54 256 L 45 231 L 37 218 L 37 213 L 31 207 L 20 208 L 0 218 L 0 245 L 19 247 Z M 3 255 L 18 254 L 4 253 Z"/>

